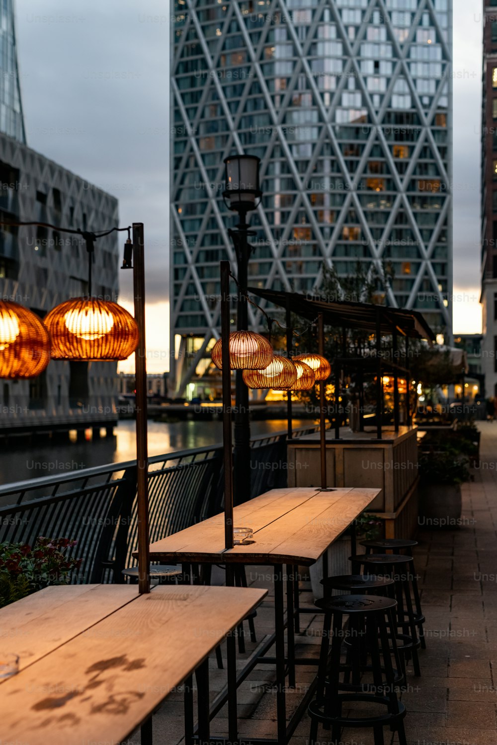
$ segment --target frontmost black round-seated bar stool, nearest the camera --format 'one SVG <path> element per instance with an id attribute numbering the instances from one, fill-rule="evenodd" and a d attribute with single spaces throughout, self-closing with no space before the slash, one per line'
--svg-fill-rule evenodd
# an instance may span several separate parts
<path id="1" fill-rule="evenodd" d="M 393 610 L 396 604 L 391 597 L 376 595 L 338 595 L 316 601 L 315 605 L 324 611 L 324 623 L 316 698 L 308 706 L 311 717 L 309 745 L 316 745 L 320 722 L 325 727 L 331 726 L 335 745 L 340 741 L 342 727 L 370 727 L 375 745 L 384 745 L 384 726 L 398 732 L 399 745 L 406 745 L 405 706 L 399 702 L 395 690 L 400 657 L 395 637 L 388 633 L 388 627 L 393 628 L 395 623 Z M 345 615 L 349 618 L 349 630 L 355 630 L 358 636 L 357 643 L 351 646 L 349 662 L 341 664 Z M 392 655 L 396 668 L 392 664 Z M 368 659 L 370 664 L 367 664 Z M 350 675 L 352 683 L 349 682 Z M 372 676 L 373 682 L 361 682 L 363 676 Z M 374 712 L 354 717 L 350 712 L 342 711 L 344 704 L 353 703 L 373 704 Z"/>

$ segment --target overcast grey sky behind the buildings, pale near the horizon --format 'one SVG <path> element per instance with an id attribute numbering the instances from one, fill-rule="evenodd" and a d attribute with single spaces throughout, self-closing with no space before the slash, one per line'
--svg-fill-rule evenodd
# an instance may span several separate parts
<path id="1" fill-rule="evenodd" d="M 454 0 L 459 332 L 478 331 L 481 317 L 480 7 L 480 0 Z M 159 359 L 168 330 L 167 8 L 167 0 L 16 0 L 28 145 L 118 197 L 121 225 L 145 223 L 148 347 L 159 350 L 151 371 L 168 363 Z M 121 272 L 120 281 L 121 300 L 129 302 L 130 273 Z"/>

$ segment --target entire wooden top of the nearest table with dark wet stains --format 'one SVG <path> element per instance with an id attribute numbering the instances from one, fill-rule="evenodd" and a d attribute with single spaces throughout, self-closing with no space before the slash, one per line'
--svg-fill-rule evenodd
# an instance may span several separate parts
<path id="1" fill-rule="evenodd" d="M 265 590 L 51 587 L 0 609 L 0 742 L 117 745 L 255 608 Z"/>

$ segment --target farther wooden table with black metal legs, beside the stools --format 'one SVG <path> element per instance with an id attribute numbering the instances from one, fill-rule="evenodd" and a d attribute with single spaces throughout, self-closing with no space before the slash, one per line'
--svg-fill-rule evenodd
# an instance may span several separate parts
<path id="1" fill-rule="evenodd" d="M 285 666 L 288 664 L 288 685 L 294 685 L 294 609 L 298 587 L 294 581 L 297 565 L 311 565 L 323 559 L 323 574 L 326 576 L 327 549 L 344 530 L 360 515 L 378 495 L 379 489 L 321 490 L 316 487 L 288 487 L 271 489 L 233 510 L 233 527 L 251 527 L 254 542 L 224 548 L 224 513 L 187 527 L 151 544 L 151 561 L 165 563 L 272 565 L 274 582 L 274 624 L 272 638 L 262 645 L 260 660 L 263 664 L 273 661 L 265 656 L 269 642 L 275 644 L 276 665 L 276 714 L 277 737 L 268 743 L 287 743 L 307 706 L 308 696 L 303 698 L 291 722 L 286 720 Z M 283 565 L 287 566 L 283 574 Z M 287 595 L 287 622 L 285 623 L 284 584 Z M 317 610 L 314 609 L 314 612 Z M 288 637 L 288 655 L 285 656 L 285 628 Z M 228 656 L 234 655 L 232 646 Z M 228 659 L 228 666 L 233 660 Z M 238 675 L 238 680 L 243 679 Z M 227 691 L 227 700 L 232 692 Z M 219 708 L 219 707 L 217 707 Z M 229 741 L 235 741 L 236 730 L 234 705 L 229 717 Z M 221 742 L 221 740 L 219 740 Z"/>

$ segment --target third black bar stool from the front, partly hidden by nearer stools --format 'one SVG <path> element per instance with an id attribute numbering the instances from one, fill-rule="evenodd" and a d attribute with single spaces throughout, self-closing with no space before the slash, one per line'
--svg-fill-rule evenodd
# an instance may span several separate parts
<path id="1" fill-rule="evenodd" d="M 413 558 L 403 554 L 357 554 L 349 559 L 352 562 L 352 571 L 358 571 L 364 566 L 365 574 L 391 577 L 394 580 L 392 590 L 397 600 L 397 620 L 392 634 L 396 636 L 397 648 L 402 653 L 401 660 L 408 661 L 412 657 L 414 675 L 419 677 L 421 668 L 417 650 L 421 644 L 411 599 Z M 402 630 L 401 633 L 399 629 Z M 402 668 L 402 672 L 405 674 L 405 668 Z"/>

